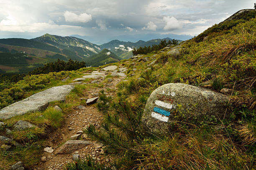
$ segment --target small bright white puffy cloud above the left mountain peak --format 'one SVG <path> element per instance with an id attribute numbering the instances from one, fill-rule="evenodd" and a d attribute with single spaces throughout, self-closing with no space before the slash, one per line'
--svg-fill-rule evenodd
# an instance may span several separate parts
<path id="1" fill-rule="evenodd" d="M 77 15 L 75 13 L 66 11 L 64 13 L 65 20 L 67 22 L 80 22 L 80 23 L 87 23 L 90 20 L 92 20 L 92 15 L 87 13 L 82 13 L 80 15 Z"/>

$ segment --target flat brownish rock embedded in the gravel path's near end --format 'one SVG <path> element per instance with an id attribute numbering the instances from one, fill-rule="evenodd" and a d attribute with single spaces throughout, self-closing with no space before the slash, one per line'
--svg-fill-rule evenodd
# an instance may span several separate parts
<path id="1" fill-rule="evenodd" d="M 55 154 L 67 154 L 72 153 L 74 150 L 84 148 L 87 145 L 92 144 L 89 140 L 68 140 L 66 143 L 61 145 L 55 152 Z"/>

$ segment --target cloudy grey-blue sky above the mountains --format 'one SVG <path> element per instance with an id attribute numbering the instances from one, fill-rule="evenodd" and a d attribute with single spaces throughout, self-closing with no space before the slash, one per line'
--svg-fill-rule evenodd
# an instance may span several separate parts
<path id="1" fill-rule="evenodd" d="M 98 45 L 170 37 L 187 40 L 255 0 L 0 0 L 0 38 L 46 33 Z"/>

